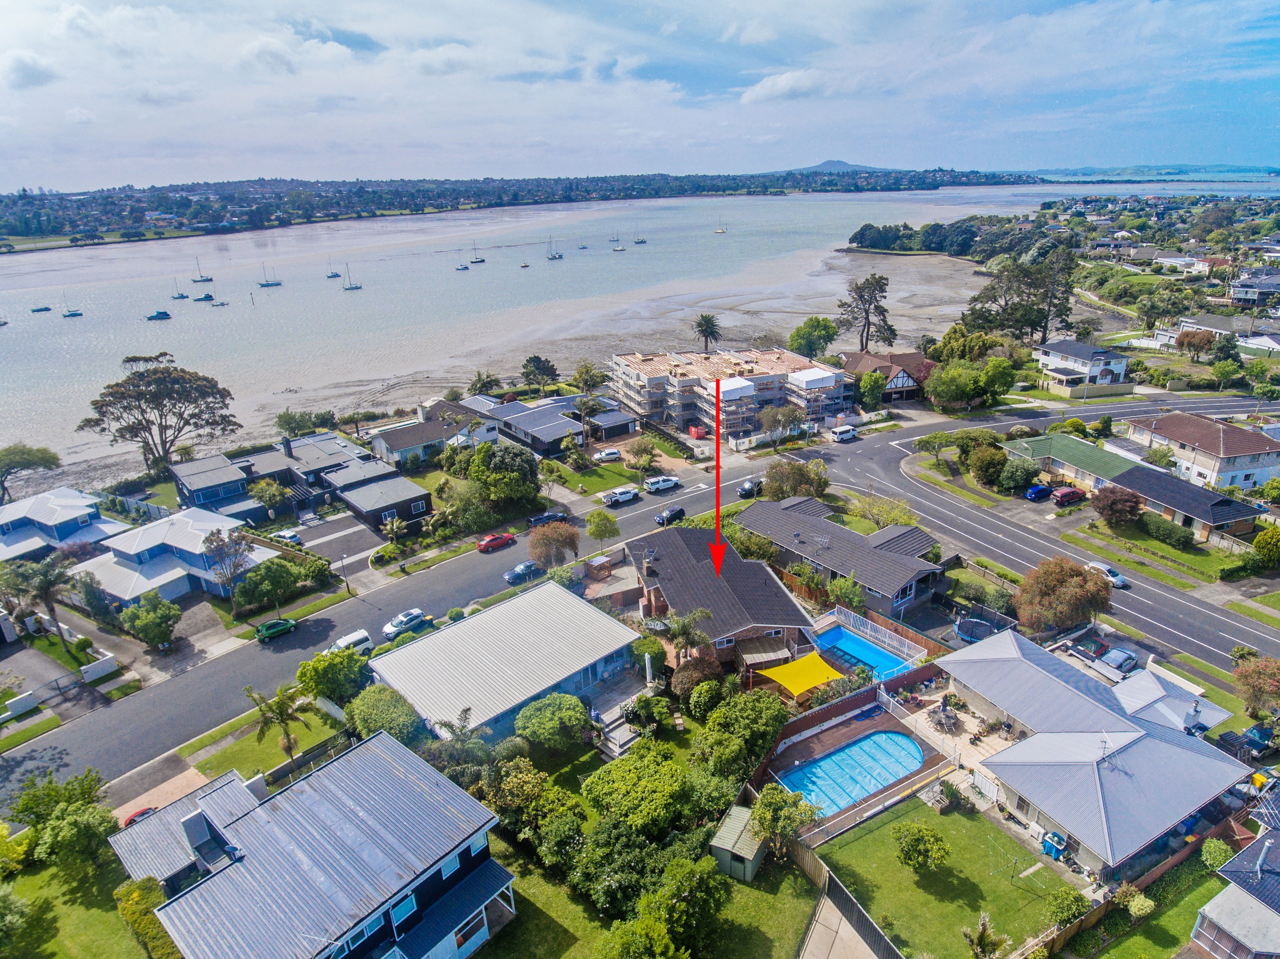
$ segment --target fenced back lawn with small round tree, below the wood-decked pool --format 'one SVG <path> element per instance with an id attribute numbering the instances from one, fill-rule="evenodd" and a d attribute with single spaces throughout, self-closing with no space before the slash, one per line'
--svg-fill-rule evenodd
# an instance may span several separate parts
<path id="1" fill-rule="evenodd" d="M 897 862 L 890 830 L 911 820 L 938 829 L 951 846 L 942 868 L 916 876 Z M 900 949 L 938 959 L 969 959 L 960 927 L 975 926 L 979 912 L 991 913 L 995 930 L 1012 936 L 1015 946 L 1038 935 L 1048 926 L 1044 898 L 1064 885 L 1050 868 L 1018 878 L 1039 857 L 982 813 L 938 816 L 914 798 L 819 846 L 818 854 L 872 917 L 893 918 Z M 993 869 L 997 875 L 991 875 Z"/>

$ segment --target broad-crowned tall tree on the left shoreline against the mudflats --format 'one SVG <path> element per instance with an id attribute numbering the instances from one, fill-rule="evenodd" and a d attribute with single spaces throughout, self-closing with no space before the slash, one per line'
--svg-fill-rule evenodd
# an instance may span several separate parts
<path id="1" fill-rule="evenodd" d="M 138 358 L 127 358 L 127 364 L 129 359 Z M 150 469 L 168 465 L 184 442 L 207 444 L 238 431 L 230 402 L 230 390 L 214 377 L 159 362 L 104 387 L 90 403 L 93 416 L 76 428 L 108 436 L 113 445 L 138 444 Z"/>

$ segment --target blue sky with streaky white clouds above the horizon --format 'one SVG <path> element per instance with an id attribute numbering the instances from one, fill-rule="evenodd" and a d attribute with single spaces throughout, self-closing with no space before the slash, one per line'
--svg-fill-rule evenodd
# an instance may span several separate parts
<path id="1" fill-rule="evenodd" d="M 1280 0 L 0 4 L 0 191 L 1280 164 Z"/>

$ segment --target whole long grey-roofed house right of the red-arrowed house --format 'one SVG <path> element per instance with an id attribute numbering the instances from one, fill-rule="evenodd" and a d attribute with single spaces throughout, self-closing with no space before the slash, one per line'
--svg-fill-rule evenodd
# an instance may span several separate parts
<path id="1" fill-rule="evenodd" d="M 923 559 L 937 541 L 919 528 L 886 527 L 863 536 L 828 517 L 831 508 L 813 496 L 773 503 L 756 500 L 733 522 L 778 547 L 778 565 L 805 563 L 824 581 L 849 577 L 863 587 L 868 609 L 902 619 L 929 602 L 942 568 Z"/>

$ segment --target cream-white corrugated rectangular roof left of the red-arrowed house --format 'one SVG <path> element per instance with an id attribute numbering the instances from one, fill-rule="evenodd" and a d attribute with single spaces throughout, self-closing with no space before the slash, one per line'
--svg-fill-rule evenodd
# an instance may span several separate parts
<path id="1" fill-rule="evenodd" d="M 548 582 L 369 665 L 429 722 L 452 720 L 470 706 L 480 725 L 639 635 Z"/>

